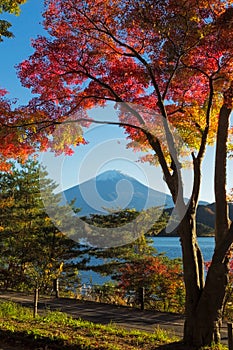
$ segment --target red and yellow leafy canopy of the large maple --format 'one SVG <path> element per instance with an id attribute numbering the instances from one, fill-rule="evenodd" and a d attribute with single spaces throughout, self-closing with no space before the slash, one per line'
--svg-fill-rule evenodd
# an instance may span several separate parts
<path id="1" fill-rule="evenodd" d="M 58 121 L 83 121 L 97 105 L 126 102 L 146 111 L 120 110 L 121 122 L 157 136 L 160 114 L 192 149 L 201 147 L 203 134 L 212 143 L 232 74 L 230 5 L 46 1 L 44 27 L 50 37 L 34 40 L 35 53 L 19 66 L 22 84 L 38 95 L 30 102 L 34 121 L 46 119 L 43 126 L 52 133 Z M 40 135 L 41 124 L 37 131 Z M 140 128 L 128 126 L 126 132 L 133 147 L 151 146 Z M 76 145 L 68 135 L 67 144 Z"/>

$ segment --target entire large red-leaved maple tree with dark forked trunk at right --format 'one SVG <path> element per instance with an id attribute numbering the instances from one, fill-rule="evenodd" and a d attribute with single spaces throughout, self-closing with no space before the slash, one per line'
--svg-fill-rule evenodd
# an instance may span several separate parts
<path id="1" fill-rule="evenodd" d="M 68 127 L 64 121 L 90 122 L 89 109 L 116 103 L 130 145 L 154 151 L 145 160 L 160 164 L 180 216 L 184 341 L 196 346 L 218 342 L 232 243 L 224 197 L 226 152 L 222 152 L 232 109 L 232 1 L 47 0 L 45 4 L 49 36 L 34 40 L 35 53 L 19 67 L 23 85 L 37 94 L 28 106 L 34 137 L 42 142 L 46 132 L 51 134 L 54 125 L 63 122 L 66 131 L 61 139 L 67 141 L 59 141 L 56 151 L 62 146 L 68 151 L 69 144 L 76 144 L 76 138 L 68 137 L 75 124 Z M 183 153 L 176 148 L 172 127 L 191 156 L 193 187 L 188 204 L 183 199 Z M 202 160 L 217 129 L 218 145 L 223 148 L 217 145 L 216 251 L 204 281 L 196 207 Z M 80 129 L 78 135 L 81 140 Z M 162 141 L 161 135 L 165 135 Z"/>

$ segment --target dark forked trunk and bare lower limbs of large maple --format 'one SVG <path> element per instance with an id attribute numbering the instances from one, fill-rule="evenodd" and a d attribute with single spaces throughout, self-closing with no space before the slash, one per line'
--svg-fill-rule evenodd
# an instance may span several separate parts
<path id="1" fill-rule="evenodd" d="M 161 110 L 161 113 L 164 116 L 165 133 L 168 139 L 168 148 L 172 160 L 170 168 L 168 168 L 158 140 L 150 133 L 146 135 L 150 145 L 158 156 L 164 178 L 172 194 L 174 203 L 176 203 L 176 212 L 180 215 L 181 223 L 178 228 L 178 233 L 182 246 L 186 289 L 184 342 L 190 346 L 197 347 L 210 345 L 213 341 L 219 342 L 220 340 L 220 327 L 229 272 L 227 252 L 231 246 L 233 237 L 233 227 L 232 225 L 230 227 L 228 222 L 225 192 L 226 144 L 229 116 L 232 109 L 232 83 L 224 94 L 224 104 L 219 115 L 215 166 L 216 248 L 205 283 L 204 261 L 196 236 L 196 208 L 201 182 L 201 162 L 207 144 L 210 123 L 213 98 L 212 83 L 213 82 L 210 80 L 206 127 L 202 134 L 200 150 L 197 156 L 195 156 L 194 153 L 192 154 L 194 183 L 192 196 L 187 207 L 183 201 L 183 184 L 178 155 L 174 143 L 170 142 L 172 137 L 167 125 L 166 113 L 163 113 L 163 110 Z M 170 170 L 172 170 L 172 172 Z"/>

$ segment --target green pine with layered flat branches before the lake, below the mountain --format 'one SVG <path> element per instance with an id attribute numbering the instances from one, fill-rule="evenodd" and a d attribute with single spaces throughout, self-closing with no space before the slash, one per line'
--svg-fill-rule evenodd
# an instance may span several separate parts
<path id="1" fill-rule="evenodd" d="M 151 211 L 156 212 L 157 208 L 151 208 Z M 152 215 L 148 215 L 150 218 Z M 156 253 L 156 250 L 151 245 L 152 241 L 146 237 L 147 230 L 144 226 L 145 217 L 142 216 L 135 209 L 125 209 L 118 212 L 112 212 L 108 215 L 93 214 L 89 217 L 83 218 L 85 222 L 91 225 L 93 228 L 91 234 L 93 235 L 94 227 L 111 228 L 123 227 L 121 235 L 122 242 L 130 242 L 122 246 L 115 246 L 109 248 L 93 248 L 89 251 L 90 256 L 102 259 L 103 263 L 90 266 L 96 272 L 104 275 L 114 276 L 118 273 L 118 270 L 126 263 L 132 262 L 140 254 L 147 254 L 148 256 Z M 127 223 L 131 223 L 127 227 Z M 166 217 L 161 217 L 156 224 L 153 225 L 152 231 L 156 232 L 158 228 L 166 224 Z M 134 229 L 135 232 L 132 231 Z M 106 236 L 106 234 L 105 234 Z M 128 238 L 129 237 L 129 238 Z M 133 239 L 132 239 L 133 237 Z M 105 238 L 106 239 L 106 238 Z M 98 236 L 99 240 L 99 236 Z"/>

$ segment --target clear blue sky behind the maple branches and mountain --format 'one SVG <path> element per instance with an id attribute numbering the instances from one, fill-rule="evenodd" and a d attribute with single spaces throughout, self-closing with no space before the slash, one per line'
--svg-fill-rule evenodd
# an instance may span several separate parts
<path id="1" fill-rule="evenodd" d="M 30 91 L 23 88 L 16 75 L 15 65 L 26 59 L 33 51 L 30 41 L 39 34 L 43 34 L 42 0 L 28 0 L 21 7 L 21 15 L 3 15 L 1 18 L 7 19 L 12 23 L 11 30 L 15 38 L 5 39 L 1 45 L 0 56 L 0 87 L 9 91 L 9 97 L 17 98 L 19 104 L 25 104 L 30 99 Z M 103 111 L 100 113 L 103 114 Z M 90 142 L 88 146 L 77 148 L 75 156 L 71 158 L 52 155 L 42 156 L 44 163 L 50 164 L 50 174 L 60 183 L 60 188 L 67 188 L 92 177 L 93 169 L 98 173 L 116 168 L 126 172 L 147 185 L 165 191 L 166 187 L 162 180 L 161 173 L 148 164 L 136 162 L 137 155 L 132 151 L 125 150 L 124 134 L 120 128 L 93 126 L 87 130 L 87 139 Z M 101 148 L 102 147 L 102 148 Z M 105 147 L 105 148 L 103 148 Z M 98 148 L 98 149 L 97 149 Z M 105 149 L 105 151 L 103 151 Z M 105 154 L 105 161 L 99 155 Z M 112 154 L 110 152 L 112 150 Z M 115 151 L 114 151 L 115 150 Z M 52 157 L 52 159 L 51 159 Z M 95 161 L 99 159 L 98 162 Z M 94 165 L 95 164 L 95 165 Z M 203 179 L 200 198 L 209 202 L 214 201 L 213 196 L 213 172 L 214 172 L 214 149 L 209 148 L 203 163 Z M 185 171 L 185 195 L 189 196 L 192 176 L 190 171 Z M 233 187 L 232 162 L 228 166 L 228 186 Z M 233 180 L 233 179 L 232 179 Z"/>

